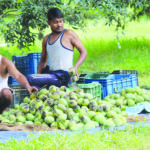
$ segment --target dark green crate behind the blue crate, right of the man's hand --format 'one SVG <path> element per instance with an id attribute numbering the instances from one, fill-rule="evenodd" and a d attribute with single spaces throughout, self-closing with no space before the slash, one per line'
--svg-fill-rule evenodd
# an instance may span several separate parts
<path id="1" fill-rule="evenodd" d="M 109 74 L 110 73 L 108 71 L 90 73 L 85 76 L 85 79 L 102 79 L 102 78 L 106 78 Z"/>

